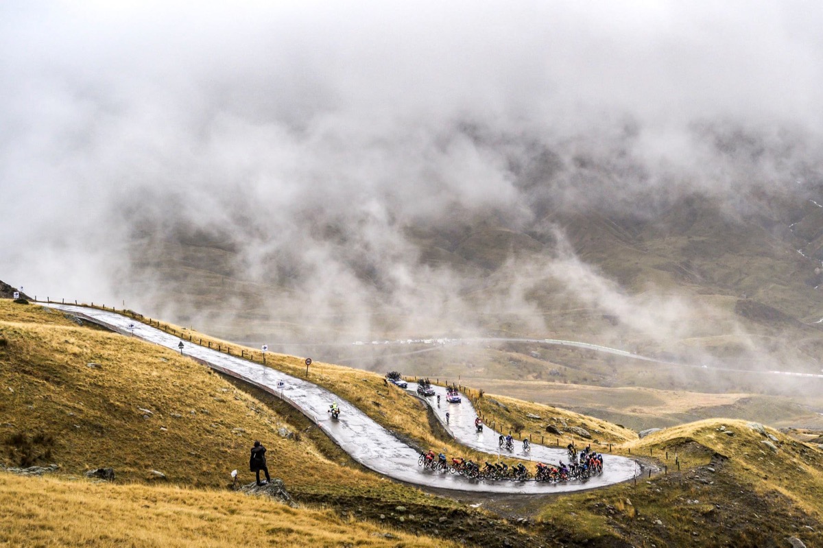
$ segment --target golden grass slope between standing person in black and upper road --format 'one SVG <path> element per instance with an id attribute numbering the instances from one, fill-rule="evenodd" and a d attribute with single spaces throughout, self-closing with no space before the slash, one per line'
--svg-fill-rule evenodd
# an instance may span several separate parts
<path id="1" fill-rule="evenodd" d="M 58 462 L 72 473 L 110 466 L 125 481 L 151 481 L 157 470 L 174 483 L 216 487 L 234 469 L 248 480 L 249 448 L 261 439 L 296 490 L 331 479 L 330 490 L 367 494 L 381 482 L 332 462 L 309 435 L 282 437 L 281 428 L 303 430 L 294 411 L 279 414 L 174 351 L 7 300 L 0 329 L 0 458 L 8 465 Z"/>

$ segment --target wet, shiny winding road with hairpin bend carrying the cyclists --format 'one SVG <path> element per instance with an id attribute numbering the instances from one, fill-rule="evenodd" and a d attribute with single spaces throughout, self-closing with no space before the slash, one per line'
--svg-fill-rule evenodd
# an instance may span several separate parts
<path id="1" fill-rule="evenodd" d="M 165 346 L 174 351 L 179 350 L 181 342 L 179 337 L 146 326 L 144 323 L 137 323 L 132 318 L 119 313 L 69 304 L 50 303 L 44 304 L 44 306 L 98 323 L 123 335 L 129 335 L 133 332 L 134 337 Z M 133 330 L 129 329 L 130 324 L 134 325 Z M 560 484 L 537 481 L 469 480 L 458 475 L 424 470 L 417 466 L 417 459 L 420 455 L 415 448 L 403 443 L 392 432 L 374 422 L 356 406 L 352 406 L 349 402 L 342 400 L 325 388 L 309 383 L 305 379 L 292 377 L 277 369 L 243 360 L 237 356 L 193 345 L 188 341 L 182 342 L 185 355 L 191 356 L 212 367 L 212 369 L 230 374 L 263 388 L 277 397 L 282 397 L 314 420 L 357 462 L 395 480 L 440 489 L 535 495 L 587 490 L 612 485 L 630 480 L 639 473 L 637 462 L 614 455 L 603 455 L 603 472 L 600 476 L 593 477 L 588 481 L 567 481 Z M 437 387 L 435 390 L 440 390 L 441 396 L 445 395 L 444 388 Z M 484 429 L 482 434 L 477 434 L 474 431 L 474 418 L 477 415 L 471 403 L 467 402 L 465 398 L 459 404 L 445 403 L 445 397 L 441 399 L 443 403 L 440 407 L 434 407 L 435 413 L 444 419 L 445 412 L 449 411 L 449 428 L 452 430 L 455 439 L 468 447 L 491 453 L 493 456 L 490 456 L 489 460 L 495 460 L 498 454 L 498 434 L 489 429 Z M 430 400 L 427 401 L 432 405 Z M 340 420 L 332 420 L 328 416 L 328 406 L 332 402 L 337 402 L 341 408 Z M 522 453 L 522 449 L 519 449 L 519 452 Z M 542 460 L 544 462 L 556 462 L 565 457 L 565 452 L 560 449 L 541 447 L 537 444 L 532 445 L 531 452 L 527 454 L 507 453 L 505 452 L 504 456 L 532 458 L 532 460 Z"/>

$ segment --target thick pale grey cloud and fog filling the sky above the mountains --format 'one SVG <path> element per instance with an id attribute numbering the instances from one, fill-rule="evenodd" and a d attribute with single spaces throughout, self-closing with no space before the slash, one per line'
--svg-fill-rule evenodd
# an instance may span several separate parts
<path id="1" fill-rule="evenodd" d="M 528 210 L 510 165 L 537 145 L 628 151 L 635 192 L 749 179 L 707 123 L 780 149 L 767 182 L 815 165 L 821 29 L 820 2 L 2 2 L 0 279 L 120 298 L 135 226 L 174 218 L 236 234 L 252 279 L 287 256 L 367 306 L 311 234 L 331 220 L 413 308 L 452 274 L 402 227 Z"/>

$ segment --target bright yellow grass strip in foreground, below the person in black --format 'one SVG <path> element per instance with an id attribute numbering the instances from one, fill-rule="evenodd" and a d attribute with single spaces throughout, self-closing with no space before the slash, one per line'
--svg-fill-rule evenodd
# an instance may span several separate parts
<path id="1" fill-rule="evenodd" d="M 0 521 L 0 546 L 456 546 L 230 491 L 11 474 L 0 474 Z"/>

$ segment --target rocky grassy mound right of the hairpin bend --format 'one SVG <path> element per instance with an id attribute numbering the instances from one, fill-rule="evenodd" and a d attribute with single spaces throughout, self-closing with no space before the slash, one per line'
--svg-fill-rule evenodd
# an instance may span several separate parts
<path id="1" fill-rule="evenodd" d="M 538 522 L 574 521 L 576 541 L 603 545 L 788 546 L 784 539 L 797 536 L 821 546 L 820 450 L 776 430 L 760 434 L 744 421 L 717 419 L 663 430 L 630 447 L 658 459 L 660 471 L 636 485 L 570 495 L 528 511 Z"/>

